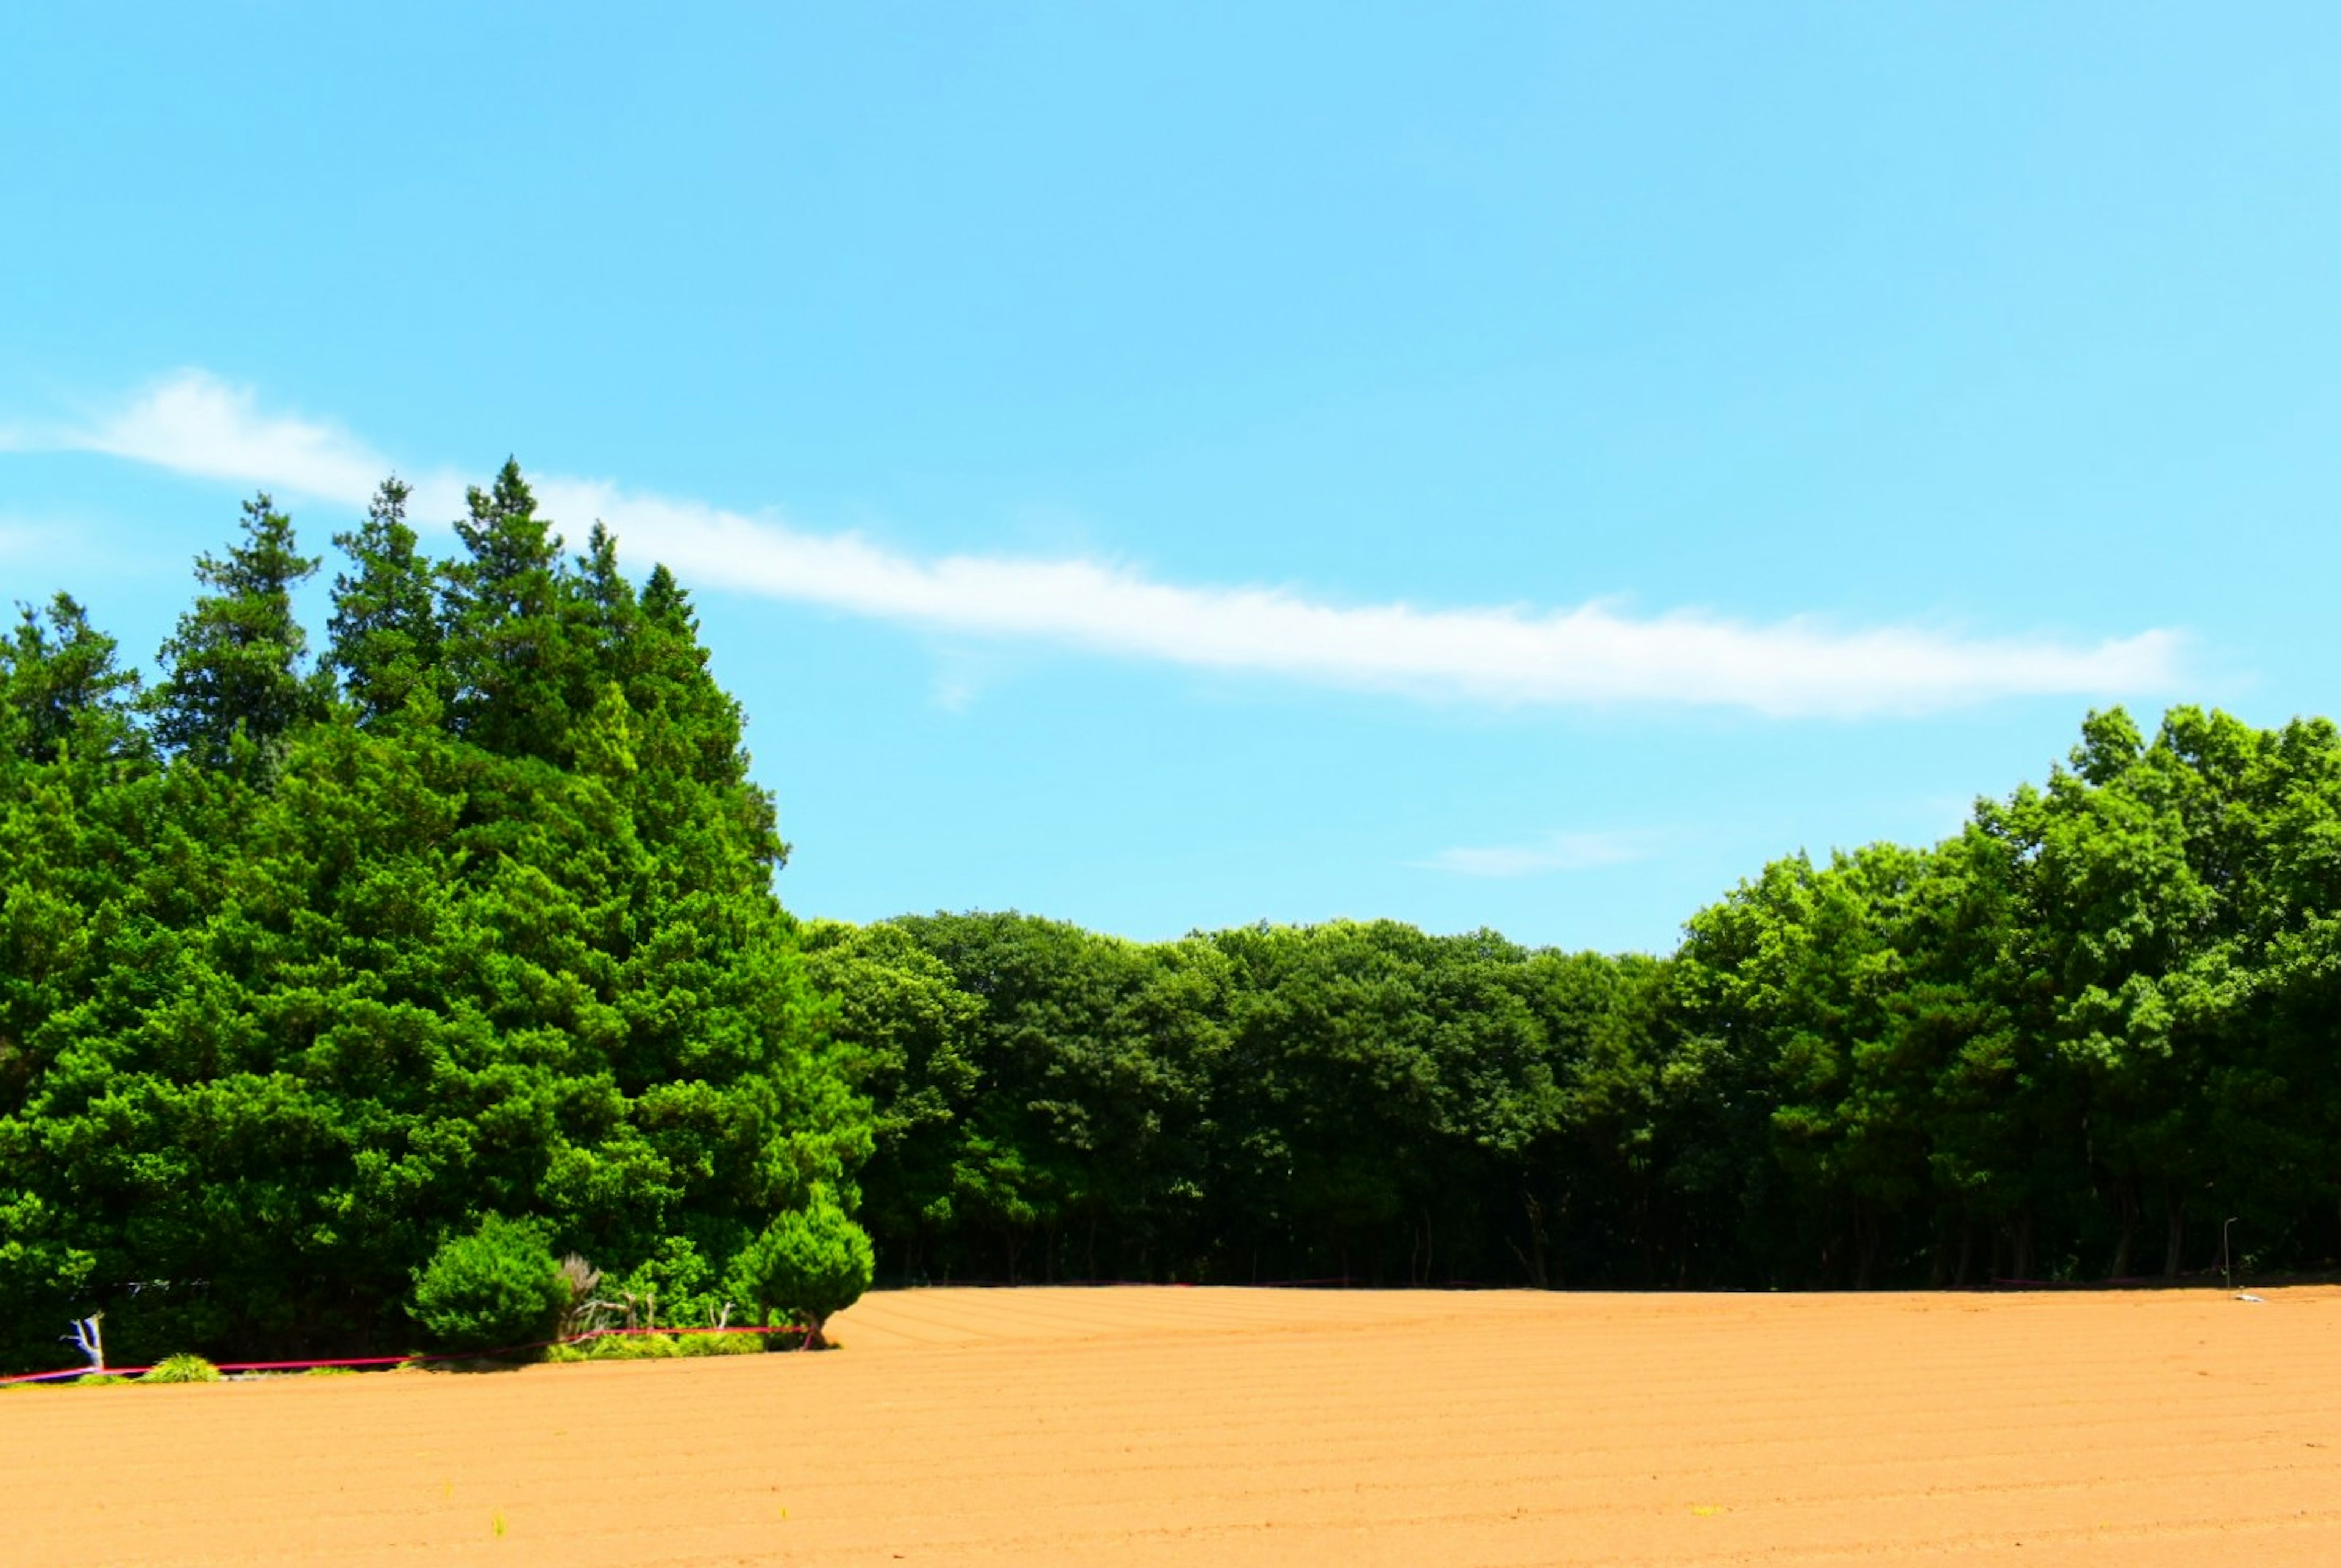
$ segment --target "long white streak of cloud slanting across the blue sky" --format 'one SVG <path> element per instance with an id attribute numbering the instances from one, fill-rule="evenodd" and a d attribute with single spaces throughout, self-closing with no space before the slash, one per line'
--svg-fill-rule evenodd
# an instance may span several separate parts
<path id="1" fill-rule="evenodd" d="M 19 445 L 75 447 L 180 473 L 363 503 L 391 463 L 346 431 L 260 410 L 183 372 L 108 419 Z M 426 475 L 419 501 L 459 494 Z M 536 477 L 571 531 L 599 517 L 630 559 L 702 587 L 908 627 L 1028 639 L 1196 669 L 1491 704 L 1707 704 L 1772 716 L 1929 711 L 2016 695 L 2142 695 L 2177 686 L 2179 639 L 1971 637 L 1945 627 L 1749 623 L 1707 611 L 1337 604 L 1292 587 L 1163 583 L 1098 559 L 915 557 L 599 480 Z M 417 508 L 426 515 L 424 508 Z M 1454 866 L 1461 868 L 1461 866 Z M 1482 873 L 1487 875 L 1487 873 Z"/>

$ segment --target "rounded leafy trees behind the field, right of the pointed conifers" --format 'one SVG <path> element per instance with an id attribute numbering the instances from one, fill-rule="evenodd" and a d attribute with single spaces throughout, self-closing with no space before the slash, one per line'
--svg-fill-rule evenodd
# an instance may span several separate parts
<path id="1" fill-rule="evenodd" d="M 897 1280 L 1875 1287 L 2341 1252 L 2341 737 L 2091 714 L 1667 957 L 815 924 Z M 2233 1219 L 2229 1236 L 2226 1222 Z"/>

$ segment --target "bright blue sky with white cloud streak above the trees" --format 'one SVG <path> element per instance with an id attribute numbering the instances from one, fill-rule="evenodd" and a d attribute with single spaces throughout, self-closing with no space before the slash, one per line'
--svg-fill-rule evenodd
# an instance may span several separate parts
<path id="1" fill-rule="evenodd" d="M 12 7 L 0 585 L 506 454 L 850 920 L 1669 948 L 2334 711 L 2332 7 Z"/>

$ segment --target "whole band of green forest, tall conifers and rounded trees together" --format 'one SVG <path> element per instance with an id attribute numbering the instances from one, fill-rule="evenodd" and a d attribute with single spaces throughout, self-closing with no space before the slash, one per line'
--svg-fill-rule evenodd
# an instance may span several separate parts
<path id="1" fill-rule="evenodd" d="M 0 644 L 5 1364 L 94 1311 L 126 1355 L 407 1348 L 510 1236 L 677 1322 L 791 1308 L 808 1250 L 847 1294 L 2341 1254 L 2332 723 L 2091 714 L 1955 838 L 1765 866 L 1664 957 L 798 922 L 674 578 L 564 555 L 513 466 L 454 559 L 405 496 L 314 655 L 265 496 L 152 676 L 63 594 Z"/>

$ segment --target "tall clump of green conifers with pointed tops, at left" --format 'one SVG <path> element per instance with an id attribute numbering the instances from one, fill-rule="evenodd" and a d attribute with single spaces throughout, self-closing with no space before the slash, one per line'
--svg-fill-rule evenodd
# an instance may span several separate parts
<path id="1" fill-rule="evenodd" d="M 515 468 L 464 559 L 405 501 L 318 669 L 265 498 L 150 695 L 70 599 L 0 641 L 0 1364 L 396 1346 L 482 1212 L 698 1322 L 871 1149 L 688 597 Z"/>

